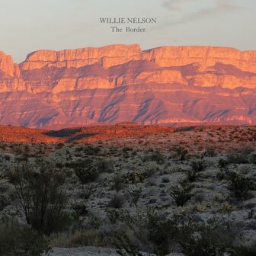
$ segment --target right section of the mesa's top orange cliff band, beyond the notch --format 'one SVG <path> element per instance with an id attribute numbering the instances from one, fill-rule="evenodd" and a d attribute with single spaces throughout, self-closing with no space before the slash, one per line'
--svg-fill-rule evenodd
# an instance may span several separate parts
<path id="1" fill-rule="evenodd" d="M 256 72 L 256 51 L 241 52 L 232 48 L 210 46 L 164 46 L 147 50 L 142 59 L 159 66 L 184 66 L 199 63 L 203 69 L 216 63 L 236 66 L 247 72 Z"/>

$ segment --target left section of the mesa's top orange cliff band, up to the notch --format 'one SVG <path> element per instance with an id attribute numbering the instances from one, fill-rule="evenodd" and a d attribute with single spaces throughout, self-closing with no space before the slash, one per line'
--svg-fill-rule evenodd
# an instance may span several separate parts
<path id="1" fill-rule="evenodd" d="M 104 68 L 120 65 L 131 60 L 140 59 L 140 46 L 137 44 L 124 46 L 112 45 L 101 48 L 83 48 L 76 50 L 38 50 L 30 53 L 21 63 L 24 70 L 41 69 L 43 67 L 80 68 L 99 63 Z"/>

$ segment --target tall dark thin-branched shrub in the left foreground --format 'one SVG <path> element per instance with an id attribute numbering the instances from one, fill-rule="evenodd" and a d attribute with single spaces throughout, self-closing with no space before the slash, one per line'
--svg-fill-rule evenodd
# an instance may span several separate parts
<path id="1" fill-rule="evenodd" d="M 50 234 L 65 226 L 65 176 L 52 166 L 41 163 L 35 171 L 33 165 L 17 165 L 9 174 L 14 184 L 27 224 L 33 229 Z"/>

